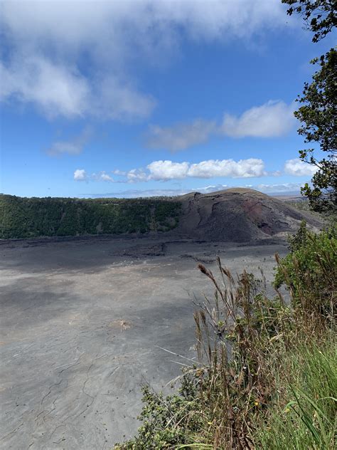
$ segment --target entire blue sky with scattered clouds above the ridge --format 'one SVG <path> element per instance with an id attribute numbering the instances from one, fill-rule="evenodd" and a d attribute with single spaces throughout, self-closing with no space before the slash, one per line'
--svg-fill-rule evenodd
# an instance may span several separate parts
<path id="1" fill-rule="evenodd" d="M 299 192 L 295 99 L 333 46 L 280 0 L 1 1 L 0 191 Z"/>

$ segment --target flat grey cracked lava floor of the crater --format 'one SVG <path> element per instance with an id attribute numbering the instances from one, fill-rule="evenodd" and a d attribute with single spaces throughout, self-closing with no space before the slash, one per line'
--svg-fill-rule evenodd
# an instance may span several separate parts
<path id="1" fill-rule="evenodd" d="M 215 270 L 219 254 L 233 272 L 261 266 L 268 280 L 275 251 L 287 247 L 2 242 L 0 448 L 111 449 L 132 436 L 141 384 L 161 389 L 180 374 L 182 360 L 159 347 L 194 355 L 192 297 L 211 293 L 198 261 Z"/>

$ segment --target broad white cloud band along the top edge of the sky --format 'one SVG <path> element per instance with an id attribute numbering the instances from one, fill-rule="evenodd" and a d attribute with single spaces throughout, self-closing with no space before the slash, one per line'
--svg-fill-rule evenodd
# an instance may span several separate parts
<path id="1" fill-rule="evenodd" d="M 211 7 L 210 7 L 211 4 Z M 264 28 L 287 22 L 278 0 L 208 2 L 196 0 L 4 1 L 3 20 L 16 38 L 48 38 L 65 51 L 94 46 L 93 51 L 125 51 L 130 43 L 156 47 L 179 33 L 193 39 L 249 38 Z M 180 27 L 180 29 L 178 28 Z M 156 40 L 156 41 L 155 41 Z M 111 48 L 106 48 L 109 41 Z M 166 43 L 167 45 L 167 43 Z"/>

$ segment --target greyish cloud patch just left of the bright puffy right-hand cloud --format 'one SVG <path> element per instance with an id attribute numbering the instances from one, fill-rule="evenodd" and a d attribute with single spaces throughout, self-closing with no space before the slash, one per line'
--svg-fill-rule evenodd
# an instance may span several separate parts
<path id="1" fill-rule="evenodd" d="M 152 125 L 147 135 L 146 145 L 153 149 L 177 152 L 206 142 L 212 132 L 215 132 L 215 122 L 201 119 L 191 123 L 178 123 L 172 127 Z"/>

